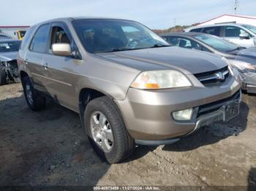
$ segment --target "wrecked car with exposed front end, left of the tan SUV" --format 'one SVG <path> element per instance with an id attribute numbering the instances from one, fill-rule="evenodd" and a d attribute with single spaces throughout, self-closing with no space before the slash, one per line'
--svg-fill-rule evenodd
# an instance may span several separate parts
<path id="1" fill-rule="evenodd" d="M 20 82 L 17 55 L 20 41 L 0 38 L 0 85 L 7 82 Z"/>

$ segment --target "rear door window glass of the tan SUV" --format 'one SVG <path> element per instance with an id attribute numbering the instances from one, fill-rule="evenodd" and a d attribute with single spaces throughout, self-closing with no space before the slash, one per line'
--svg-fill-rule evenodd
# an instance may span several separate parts
<path id="1" fill-rule="evenodd" d="M 48 43 L 48 34 L 49 34 L 50 25 L 40 26 L 34 34 L 34 38 L 30 44 L 30 50 L 33 52 L 45 52 L 46 46 Z"/>

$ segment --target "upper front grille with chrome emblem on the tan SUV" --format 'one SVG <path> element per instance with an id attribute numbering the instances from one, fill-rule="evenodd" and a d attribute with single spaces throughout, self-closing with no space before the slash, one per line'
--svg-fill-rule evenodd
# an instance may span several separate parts
<path id="1" fill-rule="evenodd" d="M 207 71 L 199 74 L 194 74 L 195 77 L 205 86 L 218 85 L 225 82 L 227 77 L 229 77 L 228 67 L 225 66 L 222 69 Z"/>

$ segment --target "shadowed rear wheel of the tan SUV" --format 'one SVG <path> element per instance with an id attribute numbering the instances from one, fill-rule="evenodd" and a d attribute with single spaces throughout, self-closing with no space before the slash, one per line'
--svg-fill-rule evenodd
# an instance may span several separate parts
<path id="1" fill-rule="evenodd" d="M 29 77 L 23 78 L 22 85 L 26 103 L 29 105 L 29 108 L 32 111 L 45 109 L 46 99 L 34 90 L 34 86 L 32 85 Z"/>

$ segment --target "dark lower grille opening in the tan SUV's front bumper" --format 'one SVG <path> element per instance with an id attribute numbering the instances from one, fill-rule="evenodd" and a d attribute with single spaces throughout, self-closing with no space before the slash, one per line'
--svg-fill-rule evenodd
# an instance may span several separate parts
<path id="1" fill-rule="evenodd" d="M 208 114 L 208 113 L 217 111 L 222 106 L 227 104 L 229 101 L 239 100 L 240 96 L 241 96 L 241 93 L 240 93 L 240 90 L 238 90 L 236 93 L 234 93 L 233 95 L 231 95 L 228 98 L 224 98 L 222 100 L 215 101 L 211 104 L 205 104 L 205 105 L 199 106 L 198 112 L 197 112 L 197 118 L 200 117 L 203 114 Z"/>

